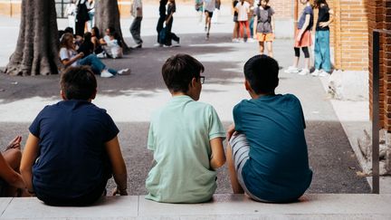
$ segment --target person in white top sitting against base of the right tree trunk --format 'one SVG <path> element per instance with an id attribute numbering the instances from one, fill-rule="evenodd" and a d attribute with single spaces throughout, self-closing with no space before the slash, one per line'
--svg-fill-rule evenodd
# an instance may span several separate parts
<path id="1" fill-rule="evenodd" d="M 110 58 L 120 58 L 123 56 L 122 42 L 119 34 L 114 28 L 106 28 L 105 36 L 100 39 L 100 45 Z"/>

